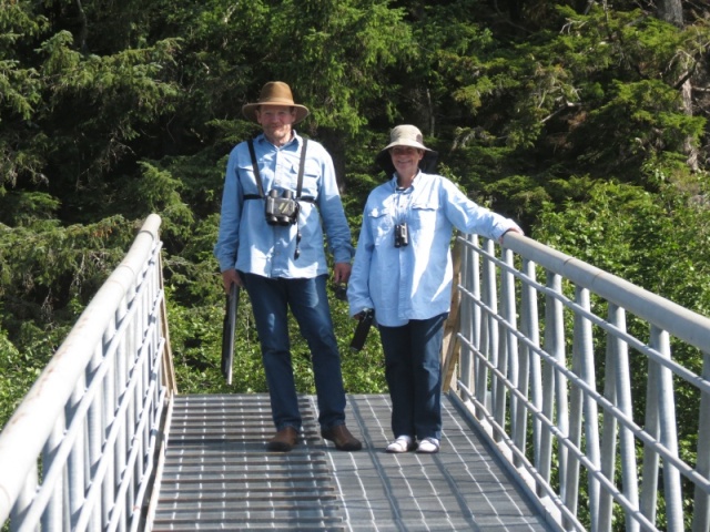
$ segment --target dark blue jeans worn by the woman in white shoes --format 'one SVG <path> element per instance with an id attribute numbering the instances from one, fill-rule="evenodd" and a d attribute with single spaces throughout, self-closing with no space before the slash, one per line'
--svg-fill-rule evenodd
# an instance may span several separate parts
<path id="1" fill-rule="evenodd" d="M 442 439 L 442 341 L 447 313 L 379 326 L 395 438 Z"/>

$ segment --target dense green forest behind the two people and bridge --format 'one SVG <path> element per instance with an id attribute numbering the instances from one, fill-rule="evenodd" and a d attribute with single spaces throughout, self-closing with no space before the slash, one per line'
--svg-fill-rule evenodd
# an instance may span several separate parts
<path id="1" fill-rule="evenodd" d="M 704 0 L 0 0 L 0 426 L 150 213 L 180 390 L 265 390 L 245 298 L 220 375 L 212 248 L 226 156 L 258 132 L 241 108 L 272 80 L 311 109 L 354 241 L 412 123 L 476 202 L 710 316 L 709 62 Z M 332 306 L 347 390 L 386 391 L 377 335 L 351 352 Z"/>

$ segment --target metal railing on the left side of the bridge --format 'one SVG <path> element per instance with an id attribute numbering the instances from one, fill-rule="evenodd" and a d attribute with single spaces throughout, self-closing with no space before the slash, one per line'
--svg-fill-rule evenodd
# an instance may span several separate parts
<path id="1" fill-rule="evenodd" d="M 138 530 L 160 418 L 166 319 L 158 215 L 0 433 L 0 523 Z"/>

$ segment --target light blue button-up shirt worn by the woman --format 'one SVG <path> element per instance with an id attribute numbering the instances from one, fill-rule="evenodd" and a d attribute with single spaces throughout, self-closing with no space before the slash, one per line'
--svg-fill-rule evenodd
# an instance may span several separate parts
<path id="1" fill-rule="evenodd" d="M 395 225 L 406 223 L 409 244 L 395 247 Z M 395 177 L 368 196 L 347 287 L 349 314 L 375 309 L 387 327 L 428 319 L 450 307 L 454 227 L 498 239 L 520 229 L 511 219 L 478 206 L 449 180 L 419 172 L 409 188 Z"/>

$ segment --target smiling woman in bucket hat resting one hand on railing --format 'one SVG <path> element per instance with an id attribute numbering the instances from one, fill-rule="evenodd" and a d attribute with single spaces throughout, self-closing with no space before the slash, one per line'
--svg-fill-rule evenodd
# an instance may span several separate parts
<path id="1" fill-rule="evenodd" d="M 523 233 L 434 173 L 436 152 L 398 125 L 377 162 L 392 178 L 368 196 L 347 288 L 349 314 L 374 309 L 385 354 L 394 441 L 387 452 L 438 452 L 444 321 L 449 311 L 453 228 L 501 239 Z"/>

